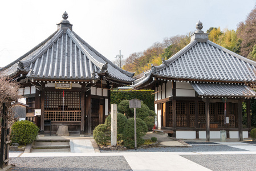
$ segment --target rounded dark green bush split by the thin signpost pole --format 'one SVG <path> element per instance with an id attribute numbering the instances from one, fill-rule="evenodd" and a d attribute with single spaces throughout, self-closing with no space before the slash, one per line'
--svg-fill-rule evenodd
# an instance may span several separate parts
<path id="1" fill-rule="evenodd" d="M 148 132 L 148 127 L 145 122 L 139 118 L 136 120 L 136 136 L 137 136 L 137 145 L 141 145 L 144 143 L 141 137 L 146 135 Z M 127 148 L 134 148 L 135 147 L 135 140 L 134 140 L 134 118 L 129 118 L 127 123 L 125 124 L 125 129 L 122 134 L 122 139 L 124 141 L 124 146 Z"/>

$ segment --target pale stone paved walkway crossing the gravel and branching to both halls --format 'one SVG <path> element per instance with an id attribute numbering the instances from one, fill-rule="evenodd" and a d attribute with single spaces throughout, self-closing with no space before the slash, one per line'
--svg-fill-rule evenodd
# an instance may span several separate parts
<path id="1" fill-rule="evenodd" d="M 164 135 L 148 134 L 145 139 L 151 136 L 157 137 L 167 145 L 176 146 L 177 141 L 170 139 Z M 196 164 L 180 155 L 206 155 L 206 154 L 256 154 L 255 144 L 247 144 L 242 142 L 220 142 L 218 145 L 229 145 L 234 148 L 240 148 L 247 151 L 223 151 L 223 152 L 121 152 L 121 153 L 99 153 L 95 147 L 92 137 L 58 137 L 44 136 L 39 139 L 70 139 L 71 152 L 38 152 L 38 153 L 10 153 L 10 157 L 67 157 L 67 156 L 123 156 L 131 166 L 132 170 L 209 170 L 202 165 Z M 193 141 L 193 140 L 184 140 Z M 205 142 L 205 140 L 196 140 Z M 180 145 L 180 144 L 179 144 Z M 209 144 L 212 145 L 212 144 Z M 95 150 L 96 149 L 96 150 Z"/>

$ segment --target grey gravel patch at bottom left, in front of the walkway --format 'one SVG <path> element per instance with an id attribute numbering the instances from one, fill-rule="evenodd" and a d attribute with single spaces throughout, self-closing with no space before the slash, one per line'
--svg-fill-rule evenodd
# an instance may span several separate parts
<path id="1" fill-rule="evenodd" d="M 123 156 L 17 157 L 9 170 L 132 170 Z M 59 166 L 59 167 L 58 167 Z"/>

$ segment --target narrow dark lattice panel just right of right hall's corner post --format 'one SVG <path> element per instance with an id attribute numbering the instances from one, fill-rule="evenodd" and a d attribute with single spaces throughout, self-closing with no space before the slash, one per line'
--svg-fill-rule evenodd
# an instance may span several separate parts
<path id="1" fill-rule="evenodd" d="M 186 103 L 176 103 L 176 126 L 186 127 Z"/>

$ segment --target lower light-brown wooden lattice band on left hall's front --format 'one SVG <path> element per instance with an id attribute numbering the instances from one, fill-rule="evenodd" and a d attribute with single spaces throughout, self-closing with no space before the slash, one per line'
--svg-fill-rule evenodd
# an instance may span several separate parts
<path id="1" fill-rule="evenodd" d="M 44 120 L 81 121 L 81 111 L 44 111 Z"/>

